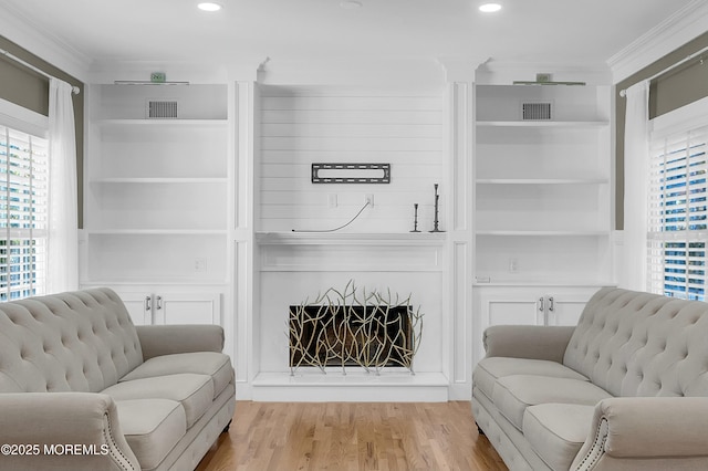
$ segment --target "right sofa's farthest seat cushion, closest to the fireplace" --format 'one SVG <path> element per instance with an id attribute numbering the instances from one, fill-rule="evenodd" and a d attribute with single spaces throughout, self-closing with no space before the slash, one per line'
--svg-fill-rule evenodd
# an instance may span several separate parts
<path id="1" fill-rule="evenodd" d="M 477 364 L 472 381 L 488 397 L 492 398 L 497 379 L 511 375 L 540 375 L 554 378 L 587 380 L 583 375 L 556 362 L 528 358 L 491 357 Z"/>

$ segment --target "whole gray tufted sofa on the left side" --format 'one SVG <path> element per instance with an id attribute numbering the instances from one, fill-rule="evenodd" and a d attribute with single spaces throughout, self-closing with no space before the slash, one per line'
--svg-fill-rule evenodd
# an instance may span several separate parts
<path id="1" fill-rule="evenodd" d="M 0 470 L 194 470 L 233 417 L 222 346 L 108 289 L 0 304 Z"/>

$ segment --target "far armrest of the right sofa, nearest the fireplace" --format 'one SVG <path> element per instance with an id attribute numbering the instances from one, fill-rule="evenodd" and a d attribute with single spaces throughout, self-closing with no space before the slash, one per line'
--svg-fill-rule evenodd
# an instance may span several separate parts
<path id="1" fill-rule="evenodd" d="M 487 356 L 563 363 L 574 326 L 492 325 L 482 337 Z"/>

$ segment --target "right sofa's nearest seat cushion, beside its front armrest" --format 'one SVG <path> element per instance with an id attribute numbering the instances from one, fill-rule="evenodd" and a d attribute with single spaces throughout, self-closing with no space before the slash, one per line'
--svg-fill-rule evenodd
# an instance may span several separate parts
<path id="1" fill-rule="evenodd" d="M 529 406 L 523 436 L 553 471 L 565 471 L 587 438 L 594 410 L 594 406 L 576 404 Z"/>

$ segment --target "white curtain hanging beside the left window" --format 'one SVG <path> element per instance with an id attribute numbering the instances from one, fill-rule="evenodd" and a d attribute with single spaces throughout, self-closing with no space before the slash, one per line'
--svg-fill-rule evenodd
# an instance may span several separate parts
<path id="1" fill-rule="evenodd" d="M 76 142 L 71 95 L 71 85 L 50 78 L 48 294 L 79 287 Z"/>

